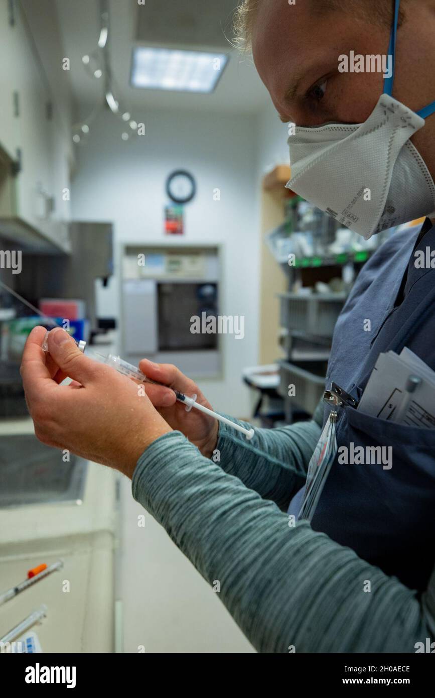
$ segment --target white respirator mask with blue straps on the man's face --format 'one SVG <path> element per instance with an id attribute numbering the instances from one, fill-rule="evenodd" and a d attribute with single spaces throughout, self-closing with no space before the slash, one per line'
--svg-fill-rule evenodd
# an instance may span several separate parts
<path id="1" fill-rule="evenodd" d="M 395 57 L 396 0 L 389 54 Z M 296 127 L 289 137 L 287 188 L 365 239 L 435 211 L 435 184 L 409 140 L 435 112 L 415 113 L 391 96 L 392 76 L 364 124 Z"/>

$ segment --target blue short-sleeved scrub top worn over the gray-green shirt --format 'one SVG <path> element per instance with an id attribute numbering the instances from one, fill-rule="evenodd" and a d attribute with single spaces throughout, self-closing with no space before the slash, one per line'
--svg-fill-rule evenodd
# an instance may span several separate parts
<path id="1" fill-rule="evenodd" d="M 429 219 L 422 228 L 392 235 L 363 267 L 335 327 L 327 388 L 334 381 L 359 398 L 379 354 L 404 346 L 435 370 L 435 269 L 415 268 L 415 251 L 426 248 L 435 251 Z M 328 413 L 326 407 L 324 421 Z M 423 591 L 435 563 L 435 429 L 344 408 L 337 445 L 351 442 L 391 446 L 392 468 L 339 464 L 336 458 L 312 528 Z M 293 498 L 290 513 L 297 514 L 302 494 Z"/>

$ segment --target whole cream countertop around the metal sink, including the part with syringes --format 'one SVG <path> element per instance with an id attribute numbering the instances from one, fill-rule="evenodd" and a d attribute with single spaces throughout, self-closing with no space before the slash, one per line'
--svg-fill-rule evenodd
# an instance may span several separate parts
<path id="1" fill-rule="evenodd" d="M 33 433 L 31 419 L 3 420 L 0 440 L 12 433 Z M 64 563 L 62 570 L 0 606 L 0 637 L 46 604 L 47 617 L 31 629 L 43 652 L 114 651 L 120 477 L 89 462 L 81 504 L 0 508 L 0 591 L 26 579 L 36 565 Z"/>

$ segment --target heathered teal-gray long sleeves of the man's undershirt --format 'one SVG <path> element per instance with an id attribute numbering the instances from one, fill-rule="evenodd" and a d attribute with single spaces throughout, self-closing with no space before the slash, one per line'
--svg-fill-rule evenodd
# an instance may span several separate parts
<path id="1" fill-rule="evenodd" d="M 239 422 L 248 426 L 245 422 Z M 282 511 L 303 484 L 320 434 L 312 422 L 220 425 L 215 460 L 179 431 L 158 438 L 132 478 L 167 530 L 261 652 L 415 652 L 435 634 L 435 574 L 421 597 L 309 523 Z"/>

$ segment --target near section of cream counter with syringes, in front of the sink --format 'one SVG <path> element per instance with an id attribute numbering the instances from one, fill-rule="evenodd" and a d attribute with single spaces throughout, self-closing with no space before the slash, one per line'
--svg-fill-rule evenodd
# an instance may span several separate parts
<path id="1" fill-rule="evenodd" d="M 3 553 L 3 547 L 0 548 Z M 26 579 L 40 563 L 63 560 L 64 567 L 0 606 L 0 637 L 47 606 L 43 622 L 33 625 L 43 652 L 114 651 L 113 537 L 40 540 L 26 553 L 0 558 L 1 591 Z"/>

